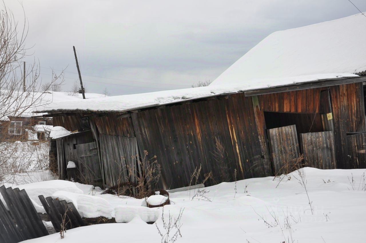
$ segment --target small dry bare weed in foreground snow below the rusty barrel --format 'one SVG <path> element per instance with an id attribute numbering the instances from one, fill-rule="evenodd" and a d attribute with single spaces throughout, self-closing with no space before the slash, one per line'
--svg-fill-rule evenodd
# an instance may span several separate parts
<path id="1" fill-rule="evenodd" d="M 161 220 L 163 221 L 163 229 L 160 229 L 158 225 L 155 223 L 156 228 L 158 230 L 159 235 L 161 236 L 161 243 L 174 243 L 178 237 L 182 237 L 182 233 L 180 232 L 180 228 L 182 227 L 182 223 L 180 220 L 182 218 L 183 210 L 179 210 L 178 217 L 173 218 L 168 211 L 168 221 L 164 218 L 164 207 L 163 207 L 163 214 L 161 215 Z"/>

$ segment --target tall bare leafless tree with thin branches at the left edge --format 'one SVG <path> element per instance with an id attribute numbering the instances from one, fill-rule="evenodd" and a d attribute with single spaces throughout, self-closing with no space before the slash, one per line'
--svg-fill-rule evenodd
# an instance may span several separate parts
<path id="1" fill-rule="evenodd" d="M 22 117 L 33 114 L 34 108 L 49 104 L 52 101 L 42 99 L 39 77 L 39 63 L 27 63 L 23 67 L 23 59 L 27 56 L 26 37 L 28 33 L 27 18 L 24 16 L 20 23 L 13 12 L 2 2 L 0 15 L 0 179 L 26 173 L 30 166 L 31 156 L 19 153 L 22 149 L 19 140 L 26 139 L 25 127 L 15 125 L 9 117 Z M 25 72 L 25 86 L 23 86 Z M 20 75 L 21 73 L 21 75 Z M 52 71 L 50 85 L 60 85 L 63 82 L 63 71 L 57 75 Z M 20 123 L 20 122 L 19 122 Z M 14 124 L 14 126 L 11 126 Z M 3 180 L 1 179 L 1 180 Z"/>

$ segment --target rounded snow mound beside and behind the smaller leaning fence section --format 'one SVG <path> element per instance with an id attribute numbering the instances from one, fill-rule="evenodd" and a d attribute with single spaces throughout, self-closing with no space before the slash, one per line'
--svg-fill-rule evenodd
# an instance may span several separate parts
<path id="1" fill-rule="evenodd" d="M 60 200 L 74 203 L 81 217 L 94 218 L 103 216 L 112 218 L 113 208 L 103 198 L 68 191 L 56 191 L 51 197 L 53 199 L 59 198 Z"/>

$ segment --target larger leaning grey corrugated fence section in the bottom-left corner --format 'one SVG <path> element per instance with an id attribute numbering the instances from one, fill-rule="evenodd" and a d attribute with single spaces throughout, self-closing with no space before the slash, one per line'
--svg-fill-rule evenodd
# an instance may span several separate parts
<path id="1" fill-rule="evenodd" d="M 48 235 L 24 189 L 1 186 L 0 192 L 6 203 L 0 200 L 0 242 L 17 243 Z"/>

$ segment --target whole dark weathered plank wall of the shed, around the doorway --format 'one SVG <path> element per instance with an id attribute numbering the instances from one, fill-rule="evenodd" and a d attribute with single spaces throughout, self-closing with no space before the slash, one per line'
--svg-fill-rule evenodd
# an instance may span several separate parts
<path id="1" fill-rule="evenodd" d="M 330 102 L 331 107 L 329 104 L 324 106 L 324 102 Z M 271 175 L 264 131 L 272 127 L 270 124 L 266 127 L 264 112 L 283 112 L 285 120 L 299 122 L 300 132 L 334 130 L 339 168 L 350 167 L 347 132 L 362 132 L 366 127 L 362 83 L 257 97 L 238 93 L 147 108 L 131 113 L 131 117 L 119 118 L 117 112 L 94 114 L 89 116 L 89 121 L 97 128 L 94 133 L 135 139 L 137 142 L 133 143 L 135 147 L 135 143 L 138 144 L 139 154 L 147 150 L 150 156 L 156 155 L 163 166 L 161 186 L 174 188 L 187 186 L 191 173 L 200 164 L 202 177 L 204 173 L 213 172 L 214 180 L 209 181 L 212 184 L 233 180 L 234 169 L 238 171 L 237 179 Z M 333 112 L 334 122 L 325 121 L 326 116 L 321 115 L 325 112 Z M 83 115 L 87 114 L 55 117 L 55 125 L 68 130 L 79 129 L 83 127 L 80 121 Z M 281 120 L 278 122 L 278 127 L 290 125 Z M 78 143 L 70 139 L 64 141 L 65 160 L 73 157 L 70 147 Z M 93 136 L 80 143 L 92 141 Z M 105 163 L 108 160 L 118 161 L 123 156 L 120 153 L 123 154 L 125 148 L 119 146 L 118 141 L 117 138 L 100 139 L 98 150 L 103 150 L 110 157 L 104 155 L 100 158 L 104 174 L 109 177 L 106 184 L 116 182 L 115 168 Z M 125 142 L 129 143 L 126 139 Z"/>

